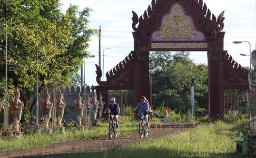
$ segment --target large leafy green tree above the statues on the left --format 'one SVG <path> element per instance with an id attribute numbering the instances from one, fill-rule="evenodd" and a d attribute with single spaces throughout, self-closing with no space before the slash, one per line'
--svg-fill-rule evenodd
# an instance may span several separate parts
<path id="1" fill-rule="evenodd" d="M 56 87 L 71 84 L 83 58 L 90 55 L 86 48 L 95 33 L 88 28 L 91 9 L 80 12 L 71 5 L 63 14 L 60 0 L 0 0 L 0 4 L 0 97 L 5 92 L 6 28 L 9 95 L 18 86 L 25 102 L 33 98 L 37 68 L 40 87 L 53 87 L 54 81 Z"/>

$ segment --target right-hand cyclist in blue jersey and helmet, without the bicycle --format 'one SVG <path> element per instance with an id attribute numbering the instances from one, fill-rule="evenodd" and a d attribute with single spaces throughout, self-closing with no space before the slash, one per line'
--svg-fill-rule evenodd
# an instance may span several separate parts
<path id="1" fill-rule="evenodd" d="M 140 108 L 140 113 L 144 115 L 145 121 L 146 121 L 146 125 L 149 127 L 149 112 L 150 112 L 150 106 L 149 104 L 146 102 L 146 97 L 142 96 L 141 97 L 141 101 L 139 104 L 137 104 L 137 106 L 134 108 L 133 111 L 136 111 L 138 108 Z"/>

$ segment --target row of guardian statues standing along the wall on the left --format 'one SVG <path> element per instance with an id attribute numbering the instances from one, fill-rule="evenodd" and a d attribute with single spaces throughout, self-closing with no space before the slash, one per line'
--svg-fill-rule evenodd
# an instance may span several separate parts
<path id="1" fill-rule="evenodd" d="M 11 98 L 11 114 L 13 115 L 13 126 L 14 132 L 21 132 L 19 127 L 19 122 L 22 118 L 22 110 L 24 107 L 23 102 L 20 100 L 20 93 L 18 87 L 14 92 L 14 98 Z M 50 101 L 50 94 L 48 93 L 48 89 L 46 88 L 45 92 L 42 95 L 42 99 L 40 101 L 40 105 L 42 107 L 42 115 L 44 120 L 44 129 L 51 130 L 49 127 L 49 123 L 53 114 L 53 110 L 56 112 L 57 118 L 57 126 L 63 127 L 62 120 L 64 117 L 64 110 L 66 107 L 66 103 L 63 101 L 63 94 L 61 92 L 58 93 L 58 98 L 55 101 L 55 108 L 53 103 Z M 86 119 L 86 122 L 89 123 L 91 120 L 95 121 L 97 117 L 97 113 L 99 112 L 99 118 L 101 120 L 102 112 L 104 108 L 104 102 L 102 101 L 103 97 L 100 94 L 100 100 L 97 100 L 96 93 L 94 92 L 92 97 L 86 96 L 85 105 L 82 103 L 82 97 L 80 93 L 78 93 L 77 100 L 74 101 L 74 111 L 77 113 L 77 126 L 82 125 L 82 117 Z M 0 102 L 0 111 L 2 108 L 2 103 Z M 85 114 L 86 113 L 86 117 Z"/>

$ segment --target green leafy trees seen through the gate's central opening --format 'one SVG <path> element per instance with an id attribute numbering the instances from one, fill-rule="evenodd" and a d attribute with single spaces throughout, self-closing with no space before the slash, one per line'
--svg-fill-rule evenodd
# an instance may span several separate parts
<path id="1" fill-rule="evenodd" d="M 190 108 L 190 88 L 194 86 L 196 106 L 208 108 L 208 68 L 193 63 L 189 53 L 152 53 L 150 74 L 154 106 L 164 105 L 186 113 Z"/>

